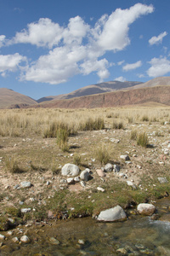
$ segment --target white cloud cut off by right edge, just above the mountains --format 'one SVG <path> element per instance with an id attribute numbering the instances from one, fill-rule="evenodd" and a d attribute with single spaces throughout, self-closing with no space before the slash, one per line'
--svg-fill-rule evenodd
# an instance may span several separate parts
<path id="1" fill-rule="evenodd" d="M 149 63 L 151 67 L 147 73 L 150 77 L 156 78 L 170 73 L 170 61 L 166 57 L 153 58 Z"/>

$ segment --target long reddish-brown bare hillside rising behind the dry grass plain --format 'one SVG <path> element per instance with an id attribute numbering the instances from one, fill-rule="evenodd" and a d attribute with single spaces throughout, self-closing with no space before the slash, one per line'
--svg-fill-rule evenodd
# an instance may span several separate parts
<path id="1" fill-rule="evenodd" d="M 170 105 L 170 86 L 156 86 L 135 90 L 119 90 L 69 100 L 54 100 L 38 104 L 35 108 L 109 108 L 156 102 Z"/>

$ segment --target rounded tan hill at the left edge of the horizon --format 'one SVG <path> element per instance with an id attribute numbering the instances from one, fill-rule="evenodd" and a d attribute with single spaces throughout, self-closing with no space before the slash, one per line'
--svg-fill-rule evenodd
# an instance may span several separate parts
<path id="1" fill-rule="evenodd" d="M 35 105 L 37 102 L 14 90 L 0 88 L 0 108 L 17 108 L 17 105 Z"/>

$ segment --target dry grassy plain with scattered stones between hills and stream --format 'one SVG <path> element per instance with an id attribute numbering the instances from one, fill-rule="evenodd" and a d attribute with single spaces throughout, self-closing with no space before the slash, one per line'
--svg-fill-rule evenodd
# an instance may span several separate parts
<path id="1" fill-rule="evenodd" d="M 0 110 L 0 218 L 95 216 L 116 204 L 125 208 L 156 200 L 170 190 L 169 152 L 166 107 Z M 130 160 L 120 158 L 125 154 Z M 84 187 L 62 177 L 66 163 L 89 168 Z M 96 170 L 106 163 L 120 172 L 99 177 Z M 23 181 L 31 188 L 22 189 Z M 31 211 L 21 214 L 22 208 Z"/>

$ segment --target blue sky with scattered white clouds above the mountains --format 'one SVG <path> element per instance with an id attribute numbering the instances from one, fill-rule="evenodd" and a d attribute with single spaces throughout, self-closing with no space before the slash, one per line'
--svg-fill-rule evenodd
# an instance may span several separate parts
<path id="1" fill-rule="evenodd" d="M 37 100 L 170 76 L 169 0 L 0 0 L 0 88 Z"/>

